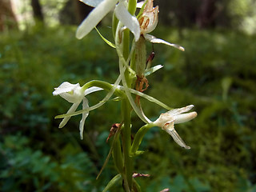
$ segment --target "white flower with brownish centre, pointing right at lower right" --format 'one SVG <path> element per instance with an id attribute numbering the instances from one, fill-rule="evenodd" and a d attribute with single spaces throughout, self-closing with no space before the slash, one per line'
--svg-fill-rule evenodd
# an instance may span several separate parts
<path id="1" fill-rule="evenodd" d="M 194 106 L 185 106 L 179 109 L 169 110 L 165 114 L 161 114 L 160 117 L 154 121 L 155 126 L 159 126 L 162 130 L 165 130 L 172 138 L 174 142 L 177 142 L 179 146 L 184 147 L 189 150 L 190 146 L 186 146 L 186 143 L 178 135 L 177 131 L 174 129 L 174 124 L 188 122 L 195 118 L 198 114 L 196 112 L 186 113 L 191 110 Z M 186 113 L 186 114 L 183 114 Z"/>

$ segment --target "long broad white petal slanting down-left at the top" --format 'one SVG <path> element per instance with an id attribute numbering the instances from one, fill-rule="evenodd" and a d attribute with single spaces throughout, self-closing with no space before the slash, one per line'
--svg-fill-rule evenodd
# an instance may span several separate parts
<path id="1" fill-rule="evenodd" d="M 76 33 L 76 38 L 80 39 L 89 34 L 91 30 L 94 29 L 94 26 L 97 24 L 114 8 L 118 0 L 104 0 L 99 3 L 98 6 L 94 8 L 87 16 L 85 20 L 78 26 Z"/>

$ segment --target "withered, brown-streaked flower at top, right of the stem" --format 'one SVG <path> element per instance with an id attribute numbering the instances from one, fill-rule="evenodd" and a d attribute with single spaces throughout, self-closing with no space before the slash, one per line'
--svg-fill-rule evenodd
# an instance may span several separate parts
<path id="1" fill-rule="evenodd" d="M 175 48 L 178 48 L 179 50 L 184 51 L 185 49 L 182 46 L 178 46 L 174 43 L 166 42 L 160 38 L 156 38 L 150 33 L 155 29 L 155 27 L 158 25 L 158 6 L 153 6 L 154 0 L 147 0 L 146 6 L 144 7 L 143 13 L 138 18 L 138 22 L 140 24 L 141 28 L 141 34 L 144 36 L 144 38 L 152 43 L 163 43 L 167 46 L 174 46 Z"/>

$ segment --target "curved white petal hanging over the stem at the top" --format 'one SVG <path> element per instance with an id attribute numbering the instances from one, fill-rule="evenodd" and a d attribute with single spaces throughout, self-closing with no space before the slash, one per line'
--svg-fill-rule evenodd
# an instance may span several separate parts
<path id="1" fill-rule="evenodd" d="M 128 10 L 126 10 L 125 6 L 126 2 L 119 2 L 118 6 L 116 6 L 114 13 L 117 18 L 122 22 L 124 26 L 126 26 L 133 34 L 135 41 L 138 41 L 140 37 L 141 30 L 139 27 L 139 23 L 136 17 L 132 16 Z"/>

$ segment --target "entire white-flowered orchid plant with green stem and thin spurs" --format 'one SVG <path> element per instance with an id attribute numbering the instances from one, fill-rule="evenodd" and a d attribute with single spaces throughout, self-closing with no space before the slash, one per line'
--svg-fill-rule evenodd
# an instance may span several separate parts
<path id="1" fill-rule="evenodd" d="M 103 191 L 109 190 L 111 186 L 118 182 L 122 183 L 123 190 L 126 192 L 141 191 L 142 189 L 135 178 L 147 175 L 138 174 L 134 170 L 134 158 L 138 158 L 138 155 L 143 153 L 142 150 L 138 149 L 146 132 L 151 127 L 158 126 L 165 130 L 167 134 L 170 134 L 174 138 L 174 142 L 178 143 L 179 146 L 189 150 L 190 146 L 187 146 L 178 135 L 174 129 L 174 124 L 188 122 L 197 116 L 196 112 L 187 113 L 194 107 L 193 105 L 173 109 L 158 101 L 157 98 L 143 93 L 149 86 L 147 76 L 153 74 L 156 70 L 162 69 L 161 65 L 151 66 L 154 52 L 147 56 L 146 43 L 162 43 L 182 51 L 184 51 L 184 48 L 149 34 L 158 24 L 158 6 L 154 7 L 153 0 L 146 0 L 144 2 L 137 2 L 137 0 L 81 1 L 95 8 L 78 26 L 76 32 L 78 39 L 84 38 L 91 30 L 96 29 L 98 22 L 106 14 L 114 10 L 112 20 L 114 43 L 104 38 L 99 32 L 98 34 L 108 45 L 116 50 L 120 74 L 117 75 L 117 79 L 113 84 L 98 80 L 92 80 L 83 86 L 80 86 L 79 83 L 62 82 L 60 86 L 55 88 L 54 95 L 60 95 L 67 102 L 72 103 L 70 110 L 66 114 L 56 117 L 62 118 L 59 128 L 65 126 L 72 116 L 82 114 L 79 126 L 82 139 L 85 121 L 90 110 L 96 110 L 98 107 L 103 106 L 113 95 L 118 97 L 117 102 L 121 102 L 122 122 L 115 123 L 110 130 L 109 138 L 112 136 L 112 142 L 109 155 L 106 158 L 106 162 L 108 162 L 112 154 L 114 166 L 118 170 L 118 174 L 111 179 Z M 136 13 L 137 15 L 135 15 Z M 89 106 L 86 95 L 94 94 L 94 92 L 101 90 L 107 91 L 105 98 L 96 105 Z M 162 106 L 162 108 L 167 110 L 166 113 L 159 114 L 157 120 L 151 121 L 143 112 L 140 98 L 146 98 L 148 101 Z M 80 103 L 82 103 L 82 110 L 76 111 Z M 137 114 L 138 118 L 145 123 L 144 126 L 136 129 L 138 131 L 134 134 L 133 138 L 131 137 L 131 129 L 134 128 L 131 121 L 132 113 Z M 106 163 L 102 168 L 104 166 L 106 166 Z M 168 190 L 166 189 L 165 191 Z"/>

